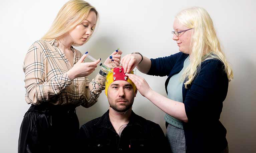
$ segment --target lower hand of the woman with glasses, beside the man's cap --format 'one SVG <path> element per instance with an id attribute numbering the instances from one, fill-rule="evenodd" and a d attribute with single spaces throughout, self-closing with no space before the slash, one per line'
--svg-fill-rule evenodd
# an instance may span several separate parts
<path id="1" fill-rule="evenodd" d="M 151 94 L 151 91 L 153 91 L 143 77 L 127 73 L 125 75 L 134 82 L 137 89 L 144 97 L 148 97 L 148 95 Z"/>

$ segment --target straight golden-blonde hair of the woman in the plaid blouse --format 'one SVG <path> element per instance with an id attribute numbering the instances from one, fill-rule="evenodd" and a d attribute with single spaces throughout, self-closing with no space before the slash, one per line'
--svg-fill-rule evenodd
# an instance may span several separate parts
<path id="1" fill-rule="evenodd" d="M 93 6 L 83 0 L 68 1 L 59 10 L 50 29 L 41 38 L 41 40 L 51 41 L 53 39 L 58 39 L 60 36 L 66 34 L 77 25 L 81 24 L 86 19 L 90 11 L 94 11 L 96 13 L 97 23 L 98 12 Z M 78 46 L 77 44 L 72 45 Z"/>

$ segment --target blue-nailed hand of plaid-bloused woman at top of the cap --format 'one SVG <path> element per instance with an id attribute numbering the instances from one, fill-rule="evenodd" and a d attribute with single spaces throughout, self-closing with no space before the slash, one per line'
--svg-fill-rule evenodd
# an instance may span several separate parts
<path id="1" fill-rule="evenodd" d="M 104 62 L 104 65 L 108 66 L 110 69 L 117 67 L 120 65 L 122 51 L 116 50 L 114 51 Z"/>

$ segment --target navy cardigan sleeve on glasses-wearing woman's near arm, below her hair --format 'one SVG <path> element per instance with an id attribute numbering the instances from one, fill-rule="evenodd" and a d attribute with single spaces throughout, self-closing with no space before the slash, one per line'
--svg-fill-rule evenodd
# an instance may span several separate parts
<path id="1" fill-rule="evenodd" d="M 227 90 L 223 63 L 216 59 L 204 61 L 183 101 L 188 121 L 219 119 Z"/>

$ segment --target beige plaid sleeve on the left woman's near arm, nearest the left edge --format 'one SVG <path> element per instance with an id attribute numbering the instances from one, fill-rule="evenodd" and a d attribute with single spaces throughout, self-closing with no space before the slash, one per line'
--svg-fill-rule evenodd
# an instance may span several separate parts
<path id="1" fill-rule="evenodd" d="M 66 73 L 45 81 L 44 53 L 35 45 L 29 48 L 24 64 L 25 100 L 27 103 L 40 104 L 54 99 L 65 87 L 71 84 Z"/>

